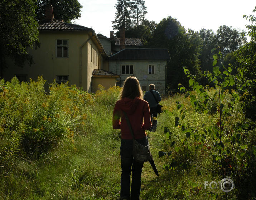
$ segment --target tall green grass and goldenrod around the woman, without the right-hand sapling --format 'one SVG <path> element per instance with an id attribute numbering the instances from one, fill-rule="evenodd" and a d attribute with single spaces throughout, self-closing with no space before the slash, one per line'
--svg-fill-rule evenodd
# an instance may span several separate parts
<path id="1" fill-rule="evenodd" d="M 120 88 L 99 86 L 96 94 L 88 94 L 53 83 L 45 94 L 44 84 L 41 77 L 29 83 L 1 80 L 0 200 L 119 199 L 120 130 L 112 128 L 112 111 Z M 161 104 L 178 115 L 176 101 L 188 105 L 194 125 L 212 123 L 209 116 L 194 113 L 183 95 L 163 99 Z M 242 118 L 237 110 L 236 119 Z M 166 170 L 172 156 L 178 155 L 158 157 L 159 151 L 173 150 L 166 143 L 164 127 L 176 140 L 185 137 L 174 123 L 174 116 L 162 113 L 157 132 L 147 132 L 160 177 L 149 163 L 144 164 L 141 199 L 216 199 L 211 190 L 204 190 L 204 181 L 217 180 L 216 174 L 201 169 L 198 176 L 198 166 Z M 193 154 L 199 164 L 210 167 L 206 157 L 203 149 Z M 236 199 L 235 192 L 231 197 Z"/>

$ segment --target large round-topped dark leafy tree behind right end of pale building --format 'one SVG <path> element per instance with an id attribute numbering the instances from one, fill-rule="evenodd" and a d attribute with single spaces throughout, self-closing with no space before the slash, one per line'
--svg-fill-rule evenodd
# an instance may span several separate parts
<path id="1" fill-rule="evenodd" d="M 167 65 L 167 84 L 171 91 L 176 92 L 179 83 L 187 86 L 184 66 L 200 79 L 202 72 L 198 56 L 201 45 L 198 32 L 185 30 L 175 18 L 168 16 L 157 25 L 149 47 L 169 50 L 171 60 Z"/>

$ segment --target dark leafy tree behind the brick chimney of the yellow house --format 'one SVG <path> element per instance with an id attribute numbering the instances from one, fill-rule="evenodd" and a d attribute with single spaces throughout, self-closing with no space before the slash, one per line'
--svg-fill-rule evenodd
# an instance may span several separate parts
<path id="1" fill-rule="evenodd" d="M 36 15 L 38 21 L 45 19 L 45 6 L 50 4 L 53 6 L 54 18 L 64 20 L 70 23 L 72 20 L 81 17 L 81 8 L 83 7 L 78 0 L 37 0 Z"/>

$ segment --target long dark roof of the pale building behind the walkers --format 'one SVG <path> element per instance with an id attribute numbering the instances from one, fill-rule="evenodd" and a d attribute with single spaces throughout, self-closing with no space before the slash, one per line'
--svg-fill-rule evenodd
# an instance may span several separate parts
<path id="1" fill-rule="evenodd" d="M 168 49 L 122 49 L 109 60 L 170 60 Z"/>

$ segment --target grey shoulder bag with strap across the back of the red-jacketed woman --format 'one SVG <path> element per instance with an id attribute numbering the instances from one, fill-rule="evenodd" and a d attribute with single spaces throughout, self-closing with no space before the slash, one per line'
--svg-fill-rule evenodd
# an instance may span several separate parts
<path id="1" fill-rule="evenodd" d="M 150 149 L 149 149 L 148 138 L 146 138 L 146 140 L 147 140 L 147 145 L 146 146 L 140 144 L 137 140 L 135 140 L 129 118 L 128 118 L 126 112 L 124 112 L 124 114 L 125 114 L 125 119 L 127 121 L 127 124 L 129 126 L 129 129 L 130 129 L 130 132 L 131 132 L 131 135 L 132 135 L 132 139 L 133 139 L 133 158 L 134 158 L 134 160 L 136 162 L 140 162 L 140 163 L 150 161 L 151 158 L 152 158 L 152 155 L 151 155 L 151 152 L 150 152 Z"/>

